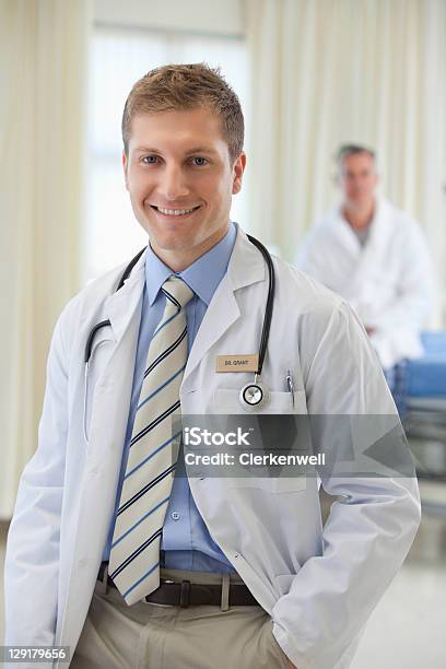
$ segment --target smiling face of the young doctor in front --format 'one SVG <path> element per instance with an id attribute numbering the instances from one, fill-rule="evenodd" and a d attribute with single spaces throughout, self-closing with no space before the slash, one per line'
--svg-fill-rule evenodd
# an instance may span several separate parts
<path id="1" fill-rule="evenodd" d="M 180 271 L 226 234 L 232 196 L 242 187 L 246 157 L 233 163 L 221 119 L 206 108 L 137 115 L 126 187 L 151 247 Z"/>

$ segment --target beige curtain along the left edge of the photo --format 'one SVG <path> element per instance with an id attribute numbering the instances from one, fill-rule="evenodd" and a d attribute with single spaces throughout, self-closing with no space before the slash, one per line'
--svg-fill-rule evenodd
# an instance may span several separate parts
<path id="1" fill-rule="evenodd" d="M 36 448 L 52 327 L 79 286 L 90 0 L 0 0 L 0 518 Z"/>

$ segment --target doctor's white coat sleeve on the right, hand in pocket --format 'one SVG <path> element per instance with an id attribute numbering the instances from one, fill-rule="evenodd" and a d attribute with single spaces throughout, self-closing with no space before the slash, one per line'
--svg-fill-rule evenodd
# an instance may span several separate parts
<path id="1" fill-rule="evenodd" d="M 376 354 L 351 307 L 342 302 L 324 333 L 307 328 L 304 339 L 310 414 L 390 414 L 392 421 L 395 414 L 399 424 Z M 339 446 L 342 438 L 328 434 L 314 444 L 315 451 L 327 453 L 337 439 Z M 407 457 L 412 462 L 409 451 Z M 338 497 L 324 527 L 321 553 L 302 565 L 272 613 L 275 637 L 298 669 L 350 666 L 352 648 L 420 523 L 414 477 L 330 478 L 322 472 L 320 478 Z"/>

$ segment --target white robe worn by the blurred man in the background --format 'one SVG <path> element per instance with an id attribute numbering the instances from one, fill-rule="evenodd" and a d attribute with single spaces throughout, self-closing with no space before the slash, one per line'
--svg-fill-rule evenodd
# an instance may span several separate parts
<path id="1" fill-rule="evenodd" d="M 364 247 L 341 207 L 304 240 L 296 267 L 344 297 L 371 336 L 384 368 L 422 355 L 420 331 L 432 309 L 432 260 L 413 219 L 378 198 Z"/>

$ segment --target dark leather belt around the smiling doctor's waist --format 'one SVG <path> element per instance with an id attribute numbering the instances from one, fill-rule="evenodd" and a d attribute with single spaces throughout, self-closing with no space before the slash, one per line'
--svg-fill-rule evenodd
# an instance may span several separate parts
<path id="1" fill-rule="evenodd" d="M 108 562 L 101 564 L 97 579 L 104 582 L 104 572 Z M 116 588 L 113 579 L 107 574 L 107 585 Z M 142 598 L 142 601 L 174 605 L 178 607 L 195 607 L 199 605 L 220 606 L 222 601 L 222 586 L 219 584 L 199 584 L 190 580 L 175 583 L 162 580 L 160 587 L 150 595 Z M 231 584 L 228 588 L 228 606 L 259 606 L 259 602 L 251 595 L 245 584 Z"/>

